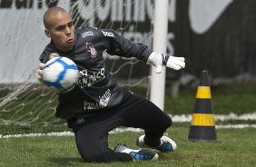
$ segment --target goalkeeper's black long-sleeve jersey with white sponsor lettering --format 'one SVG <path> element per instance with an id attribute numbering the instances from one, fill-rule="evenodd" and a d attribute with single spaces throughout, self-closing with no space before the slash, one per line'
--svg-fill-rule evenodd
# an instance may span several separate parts
<path id="1" fill-rule="evenodd" d="M 85 117 L 122 102 L 123 88 L 105 69 L 103 51 L 111 55 L 136 57 L 146 62 L 152 50 L 146 45 L 132 43 L 111 29 L 83 28 L 75 30 L 74 48 L 59 51 L 54 43 L 48 44 L 39 60 L 46 63 L 49 54 L 58 53 L 77 64 L 80 76 L 74 89 L 59 93 L 56 117 L 66 120 Z"/>

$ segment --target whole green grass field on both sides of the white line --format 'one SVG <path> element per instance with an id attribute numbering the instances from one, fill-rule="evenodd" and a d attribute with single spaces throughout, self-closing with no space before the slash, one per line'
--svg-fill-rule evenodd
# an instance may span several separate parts
<path id="1" fill-rule="evenodd" d="M 227 85 L 212 88 L 213 113 L 255 113 L 255 83 Z M 136 90 L 142 93 L 141 90 Z M 135 91 L 134 91 L 135 92 Z M 180 97 L 166 93 L 165 112 L 192 114 L 195 90 L 183 90 Z M 29 99 L 28 99 L 29 100 Z M 249 123 L 252 121 L 228 121 L 216 124 Z M 173 123 L 167 133 L 177 142 L 176 152 L 159 152 L 157 162 L 86 163 L 76 150 L 74 137 L 24 137 L 0 138 L 0 166 L 256 166 L 256 129 L 217 129 L 217 142 L 188 142 L 189 123 Z M 33 124 L 30 126 L 0 125 L 0 134 L 48 133 L 70 131 L 63 125 Z M 135 139 L 142 133 L 110 134 L 109 145 L 125 143 L 137 148 Z"/>

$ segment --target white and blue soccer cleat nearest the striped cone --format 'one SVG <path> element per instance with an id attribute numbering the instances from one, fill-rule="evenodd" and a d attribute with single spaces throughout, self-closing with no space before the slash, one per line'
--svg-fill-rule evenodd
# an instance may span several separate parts
<path id="1" fill-rule="evenodd" d="M 144 137 L 145 135 L 141 135 L 140 137 L 137 138 L 137 145 L 148 146 L 144 142 Z M 174 150 L 177 149 L 177 144 L 174 141 L 172 141 L 172 139 L 170 139 L 169 137 L 163 135 L 160 140 L 160 145 L 157 147 L 153 147 L 153 149 L 159 150 L 160 152 L 173 152 Z"/>

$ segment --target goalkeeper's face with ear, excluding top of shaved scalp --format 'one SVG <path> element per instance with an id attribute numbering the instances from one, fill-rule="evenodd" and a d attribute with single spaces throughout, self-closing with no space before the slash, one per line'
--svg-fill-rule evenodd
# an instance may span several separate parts
<path id="1" fill-rule="evenodd" d="M 44 33 L 52 39 L 60 51 L 72 50 L 74 46 L 74 25 L 72 18 L 67 13 L 52 15 L 49 29 L 45 29 Z"/>

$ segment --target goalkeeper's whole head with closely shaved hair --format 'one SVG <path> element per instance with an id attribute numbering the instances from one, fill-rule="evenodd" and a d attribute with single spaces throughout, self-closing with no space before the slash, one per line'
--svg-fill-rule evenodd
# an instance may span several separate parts
<path id="1" fill-rule="evenodd" d="M 71 16 L 61 7 L 51 7 L 44 13 L 44 34 L 57 49 L 69 51 L 74 46 L 74 25 Z"/>

